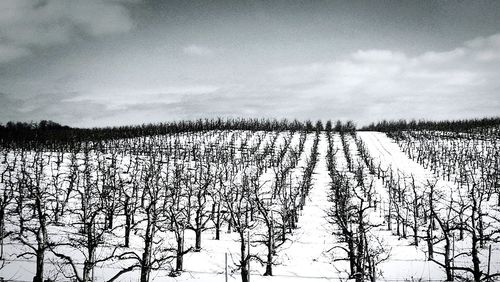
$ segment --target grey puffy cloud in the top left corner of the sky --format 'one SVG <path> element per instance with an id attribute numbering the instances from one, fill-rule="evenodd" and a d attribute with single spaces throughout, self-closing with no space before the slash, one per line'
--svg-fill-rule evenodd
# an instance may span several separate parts
<path id="1" fill-rule="evenodd" d="M 70 42 L 82 33 L 103 36 L 127 32 L 132 27 L 128 11 L 114 1 L 2 0 L 0 39 L 17 51 L 0 53 L 0 62 L 27 55 L 33 47 Z"/>

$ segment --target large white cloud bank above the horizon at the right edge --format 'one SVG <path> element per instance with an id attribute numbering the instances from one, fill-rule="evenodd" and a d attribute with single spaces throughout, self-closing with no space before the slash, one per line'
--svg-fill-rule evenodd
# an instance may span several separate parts
<path id="1" fill-rule="evenodd" d="M 449 51 L 408 56 L 392 50 L 358 50 L 339 61 L 279 68 L 269 74 L 280 87 L 310 97 L 317 106 L 330 103 L 332 112 L 350 108 L 362 113 L 353 116 L 374 111 L 380 116 L 379 111 L 385 111 L 389 117 L 421 118 L 439 114 L 438 109 L 460 114 L 477 111 L 475 105 L 498 104 L 500 95 L 493 93 L 500 89 L 499 59 L 496 34 Z"/>

